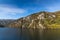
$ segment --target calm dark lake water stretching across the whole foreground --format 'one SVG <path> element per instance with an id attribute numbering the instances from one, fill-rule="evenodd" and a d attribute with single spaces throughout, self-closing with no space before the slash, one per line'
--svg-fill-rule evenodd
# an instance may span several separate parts
<path id="1" fill-rule="evenodd" d="M 0 28 L 0 40 L 60 40 L 60 30 Z"/>

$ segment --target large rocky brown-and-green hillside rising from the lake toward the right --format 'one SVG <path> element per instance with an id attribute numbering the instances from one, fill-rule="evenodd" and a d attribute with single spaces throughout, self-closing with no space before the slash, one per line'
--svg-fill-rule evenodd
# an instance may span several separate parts
<path id="1" fill-rule="evenodd" d="M 8 24 L 13 28 L 60 28 L 60 11 L 38 12 Z"/>

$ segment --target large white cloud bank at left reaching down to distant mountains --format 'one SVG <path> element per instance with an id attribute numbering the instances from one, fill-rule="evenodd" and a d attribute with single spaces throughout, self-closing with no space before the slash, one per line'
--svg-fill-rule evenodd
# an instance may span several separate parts
<path id="1" fill-rule="evenodd" d="M 12 19 L 14 18 L 15 15 L 25 13 L 25 12 L 26 10 L 21 9 L 21 8 L 13 8 L 13 7 L 0 5 L 0 19 L 8 19 L 8 18 Z"/>

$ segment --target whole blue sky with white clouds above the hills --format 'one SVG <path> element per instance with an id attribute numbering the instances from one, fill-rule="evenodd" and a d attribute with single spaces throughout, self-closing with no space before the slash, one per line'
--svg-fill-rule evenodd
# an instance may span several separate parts
<path id="1" fill-rule="evenodd" d="M 0 0 L 0 19 L 18 19 L 40 11 L 60 11 L 60 0 Z"/>

